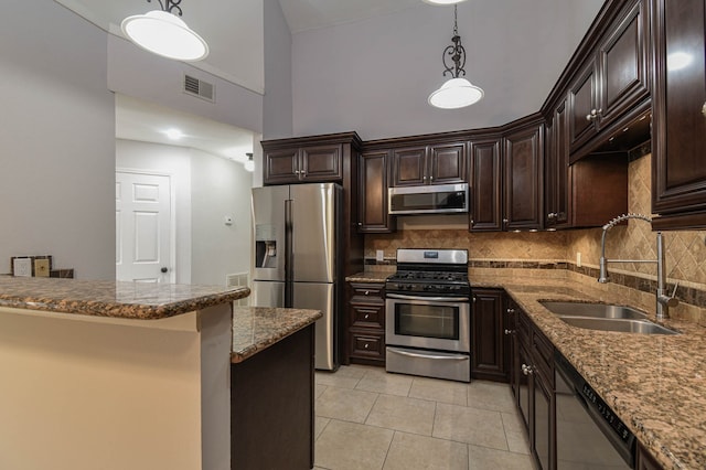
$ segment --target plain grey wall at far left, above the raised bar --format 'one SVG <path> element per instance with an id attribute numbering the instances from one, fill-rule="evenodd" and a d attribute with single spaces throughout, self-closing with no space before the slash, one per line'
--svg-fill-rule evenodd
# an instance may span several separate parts
<path id="1" fill-rule="evenodd" d="M 51 0 L 0 14 L 0 274 L 53 255 L 115 278 L 115 111 L 106 34 Z"/>

